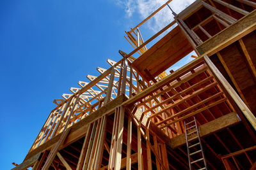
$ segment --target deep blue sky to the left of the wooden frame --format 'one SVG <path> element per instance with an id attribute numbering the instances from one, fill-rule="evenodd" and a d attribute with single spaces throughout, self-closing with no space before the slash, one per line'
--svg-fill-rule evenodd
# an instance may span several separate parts
<path id="1" fill-rule="evenodd" d="M 1 169 L 22 162 L 54 99 L 87 81 L 86 74 L 99 75 L 96 67 L 108 68 L 108 58 L 120 60 L 119 49 L 131 52 L 124 31 L 152 12 L 129 6 L 134 2 L 0 1 Z M 148 25 L 142 34 L 156 29 Z"/>

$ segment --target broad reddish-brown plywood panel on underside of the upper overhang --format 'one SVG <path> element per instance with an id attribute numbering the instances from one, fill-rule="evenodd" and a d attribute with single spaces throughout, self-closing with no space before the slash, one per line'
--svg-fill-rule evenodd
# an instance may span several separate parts
<path id="1" fill-rule="evenodd" d="M 180 27 L 177 26 L 147 52 L 134 60 L 132 66 L 136 67 L 142 76 L 150 81 L 151 78 L 144 71 L 145 68 L 153 77 L 156 77 L 192 51 L 191 44 Z"/>

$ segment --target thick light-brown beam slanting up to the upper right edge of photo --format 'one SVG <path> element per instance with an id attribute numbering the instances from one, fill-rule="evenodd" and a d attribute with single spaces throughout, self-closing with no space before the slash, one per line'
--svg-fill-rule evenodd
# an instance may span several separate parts
<path id="1" fill-rule="evenodd" d="M 234 43 L 238 39 L 242 38 L 246 34 L 256 29 L 256 10 L 253 10 L 248 15 L 244 16 L 240 20 L 237 20 L 234 24 L 230 25 L 223 31 L 219 32 L 211 39 L 208 39 L 199 46 L 196 46 L 196 50 L 200 55 L 212 55 L 226 46 Z"/>

